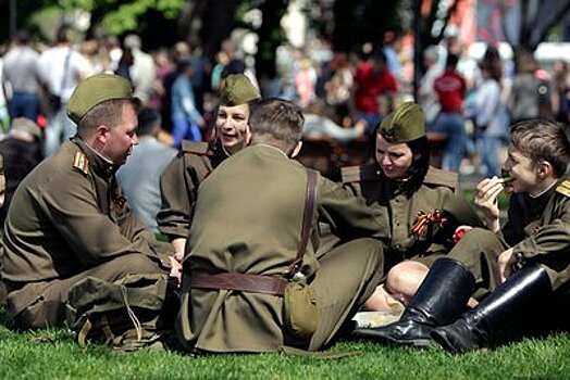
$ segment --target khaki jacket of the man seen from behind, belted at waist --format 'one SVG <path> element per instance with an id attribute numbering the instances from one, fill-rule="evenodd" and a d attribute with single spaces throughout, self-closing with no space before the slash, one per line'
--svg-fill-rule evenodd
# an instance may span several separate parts
<path id="1" fill-rule="evenodd" d="M 188 350 L 274 352 L 284 344 L 281 297 L 190 289 L 188 281 L 195 273 L 285 275 L 300 242 L 306 186 L 307 170 L 299 162 L 262 144 L 232 155 L 200 185 L 177 319 L 178 337 Z M 309 280 L 319 276 L 319 221 L 347 240 L 385 237 L 387 226 L 377 210 L 321 176 L 315 210 L 302 265 Z"/>

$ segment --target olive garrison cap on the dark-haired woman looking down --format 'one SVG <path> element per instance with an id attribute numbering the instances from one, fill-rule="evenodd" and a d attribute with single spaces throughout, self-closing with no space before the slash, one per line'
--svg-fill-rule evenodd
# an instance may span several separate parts
<path id="1" fill-rule="evenodd" d="M 425 136 L 423 111 L 414 102 L 401 103 L 382 121 L 379 134 L 391 143 L 402 143 Z"/>

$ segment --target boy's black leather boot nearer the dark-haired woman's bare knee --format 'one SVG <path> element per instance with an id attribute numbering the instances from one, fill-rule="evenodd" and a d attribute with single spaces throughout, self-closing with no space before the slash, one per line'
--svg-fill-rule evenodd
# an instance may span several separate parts
<path id="1" fill-rule="evenodd" d="M 453 322 L 466 311 L 474 283 L 473 275 L 463 264 L 439 258 L 398 321 L 356 329 L 352 337 L 381 344 L 429 346 L 433 343 L 431 332 L 434 327 Z"/>

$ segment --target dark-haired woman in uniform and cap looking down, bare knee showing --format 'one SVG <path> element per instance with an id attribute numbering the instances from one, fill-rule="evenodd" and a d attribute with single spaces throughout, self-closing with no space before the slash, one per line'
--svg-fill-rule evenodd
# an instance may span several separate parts
<path id="1" fill-rule="evenodd" d="M 368 204 L 384 210 L 391 226 L 385 281 L 367 302 L 369 311 L 395 311 L 416 293 L 431 264 L 454 246 L 460 226 L 481 226 L 458 187 L 457 174 L 430 166 L 421 107 L 400 104 L 376 132 L 375 163 L 343 168 L 343 182 Z M 468 258 L 473 266 L 475 257 Z M 479 271 L 480 277 L 484 277 Z"/>

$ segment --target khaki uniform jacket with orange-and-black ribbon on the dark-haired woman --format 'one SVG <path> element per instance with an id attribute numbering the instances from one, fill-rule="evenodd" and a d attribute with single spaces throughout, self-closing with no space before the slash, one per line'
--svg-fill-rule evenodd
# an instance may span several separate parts
<path id="1" fill-rule="evenodd" d="M 381 223 L 389 226 L 391 243 L 386 252 L 385 273 L 406 258 L 446 254 L 454 245 L 453 235 L 461 225 L 482 226 L 468 204 L 457 181 L 457 174 L 430 167 L 423 183 L 411 195 L 406 182 L 389 180 L 375 165 L 343 168 L 344 186 L 363 197 L 369 205 L 381 210 Z M 425 236 L 412 233 L 418 213 L 439 211 L 442 224 L 430 224 Z M 431 264 L 430 257 L 422 259 Z"/>

